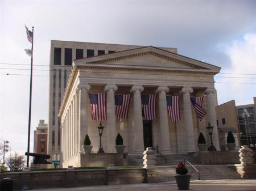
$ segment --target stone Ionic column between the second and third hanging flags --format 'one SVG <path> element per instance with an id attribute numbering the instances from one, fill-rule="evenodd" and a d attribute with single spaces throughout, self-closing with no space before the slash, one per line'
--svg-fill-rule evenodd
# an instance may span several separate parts
<path id="1" fill-rule="evenodd" d="M 144 90 L 143 86 L 131 87 L 133 92 L 133 116 L 134 116 L 134 154 L 141 155 L 144 150 L 143 141 L 143 121 L 142 121 L 142 105 L 141 92 Z"/>

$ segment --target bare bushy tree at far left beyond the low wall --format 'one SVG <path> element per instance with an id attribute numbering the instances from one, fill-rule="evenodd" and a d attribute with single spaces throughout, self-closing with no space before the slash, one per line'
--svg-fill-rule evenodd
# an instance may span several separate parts
<path id="1" fill-rule="evenodd" d="M 6 165 L 10 168 L 11 171 L 23 169 L 25 163 L 25 156 L 18 155 L 16 153 L 15 156 L 11 156 L 10 158 L 6 159 Z"/>

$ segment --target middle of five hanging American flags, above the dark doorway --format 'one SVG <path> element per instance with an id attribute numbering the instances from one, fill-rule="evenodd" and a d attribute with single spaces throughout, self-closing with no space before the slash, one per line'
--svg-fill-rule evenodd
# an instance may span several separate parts
<path id="1" fill-rule="evenodd" d="M 156 95 L 142 95 L 141 103 L 146 120 L 156 118 Z"/>

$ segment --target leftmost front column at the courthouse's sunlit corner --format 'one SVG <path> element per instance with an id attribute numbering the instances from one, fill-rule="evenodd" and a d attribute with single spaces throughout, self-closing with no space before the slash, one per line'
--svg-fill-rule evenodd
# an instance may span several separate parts
<path id="1" fill-rule="evenodd" d="M 85 135 L 88 133 L 87 124 L 87 91 L 90 90 L 89 84 L 79 84 L 79 153 L 83 153 L 82 145 L 84 145 Z"/>

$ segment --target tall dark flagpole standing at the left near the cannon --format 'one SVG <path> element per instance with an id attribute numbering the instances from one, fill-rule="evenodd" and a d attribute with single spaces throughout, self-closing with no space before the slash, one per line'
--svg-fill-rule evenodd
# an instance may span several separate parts
<path id="1" fill-rule="evenodd" d="M 34 43 L 34 27 L 32 27 L 32 56 L 30 67 L 30 109 L 28 111 L 28 136 L 27 136 L 27 152 L 30 152 L 30 125 L 31 125 L 31 100 L 32 100 L 32 71 L 33 71 L 33 43 Z M 30 156 L 27 155 L 27 167 L 30 162 Z"/>

